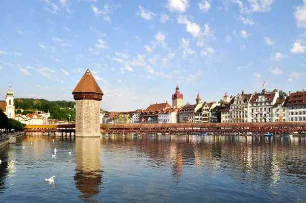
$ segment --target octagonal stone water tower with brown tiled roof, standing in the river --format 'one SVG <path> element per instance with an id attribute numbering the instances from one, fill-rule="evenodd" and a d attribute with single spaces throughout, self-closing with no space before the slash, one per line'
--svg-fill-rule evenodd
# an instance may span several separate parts
<path id="1" fill-rule="evenodd" d="M 104 93 L 89 69 L 72 94 L 75 100 L 75 137 L 99 137 L 100 100 Z"/>

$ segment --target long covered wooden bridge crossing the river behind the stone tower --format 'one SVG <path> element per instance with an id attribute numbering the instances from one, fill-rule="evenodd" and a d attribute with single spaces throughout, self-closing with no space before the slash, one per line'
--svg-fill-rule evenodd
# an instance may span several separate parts
<path id="1" fill-rule="evenodd" d="M 102 133 L 306 133 L 306 122 L 101 124 Z M 24 132 L 75 133 L 75 124 L 27 125 Z"/>

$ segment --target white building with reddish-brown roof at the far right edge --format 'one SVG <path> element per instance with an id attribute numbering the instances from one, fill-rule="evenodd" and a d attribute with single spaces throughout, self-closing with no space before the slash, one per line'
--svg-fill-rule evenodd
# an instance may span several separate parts
<path id="1" fill-rule="evenodd" d="M 288 121 L 306 121 L 306 92 L 289 93 L 287 104 Z"/>

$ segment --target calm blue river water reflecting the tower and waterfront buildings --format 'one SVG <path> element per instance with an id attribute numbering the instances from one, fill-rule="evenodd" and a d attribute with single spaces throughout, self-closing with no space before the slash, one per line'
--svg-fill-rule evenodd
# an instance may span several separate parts
<path id="1" fill-rule="evenodd" d="M 1 202 L 306 202 L 305 137 L 53 139 L 0 149 Z"/>

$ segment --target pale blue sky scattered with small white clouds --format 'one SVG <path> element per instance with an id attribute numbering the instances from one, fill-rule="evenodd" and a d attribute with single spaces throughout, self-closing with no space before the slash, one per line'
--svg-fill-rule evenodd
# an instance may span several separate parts
<path id="1" fill-rule="evenodd" d="M 306 0 L 0 1 L 0 26 L 0 100 L 73 100 L 87 68 L 109 111 L 306 89 Z"/>

